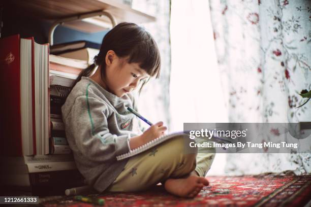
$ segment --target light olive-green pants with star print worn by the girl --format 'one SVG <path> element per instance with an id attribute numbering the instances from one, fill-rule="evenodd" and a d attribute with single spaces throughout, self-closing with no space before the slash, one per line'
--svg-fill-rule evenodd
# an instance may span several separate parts
<path id="1" fill-rule="evenodd" d="M 214 153 L 184 153 L 184 138 L 176 137 L 130 158 L 107 189 L 111 192 L 146 190 L 169 178 L 181 178 L 196 170 L 205 177 Z"/>

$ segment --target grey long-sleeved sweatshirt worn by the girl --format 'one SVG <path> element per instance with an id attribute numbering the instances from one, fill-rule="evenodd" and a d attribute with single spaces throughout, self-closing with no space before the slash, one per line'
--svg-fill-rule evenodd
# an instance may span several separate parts
<path id="1" fill-rule="evenodd" d="M 132 94 L 117 97 L 87 77 L 82 77 L 61 107 L 77 168 L 87 184 L 100 192 L 128 161 L 117 161 L 116 156 L 129 152 L 130 137 L 141 133 L 127 107 L 137 110 Z"/>

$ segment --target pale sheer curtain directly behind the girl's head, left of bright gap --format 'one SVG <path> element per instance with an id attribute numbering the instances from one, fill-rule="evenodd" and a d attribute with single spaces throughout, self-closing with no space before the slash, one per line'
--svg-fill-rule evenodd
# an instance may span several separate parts
<path id="1" fill-rule="evenodd" d="M 170 2 L 168 0 L 133 0 L 132 7 L 157 18 L 155 22 L 140 24 L 140 26 L 150 32 L 161 54 L 160 78 L 152 78 L 143 88 L 138 98 L 139 112 L 152 123 L 163 121 L 166 126 L 169 126 Z M 149 127 L 144 122 L 142 125 L 145 128 Z"/>

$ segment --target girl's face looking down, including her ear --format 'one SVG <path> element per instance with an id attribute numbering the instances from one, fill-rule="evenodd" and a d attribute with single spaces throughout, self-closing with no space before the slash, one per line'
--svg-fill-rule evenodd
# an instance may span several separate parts
<path id="1" fill-rule="evenodd" d="M 106 56 L 106 85 L 118 97 L 136 89 L 149 75 L 139 67 L 139 63 L 128 63 L 127 58 L 119 58 L 113 51 Z"/>

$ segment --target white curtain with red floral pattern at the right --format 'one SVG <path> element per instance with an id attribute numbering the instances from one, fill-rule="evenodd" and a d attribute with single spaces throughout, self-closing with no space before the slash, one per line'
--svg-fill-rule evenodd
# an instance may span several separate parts
<path id="1" fill-rule="evenodd" d="M 311 1 L 209 2 L 229 121 L 311 121 Z M 284 170 L 310 173 L 310 151 L 227 155 L 229 175 Z"/>

